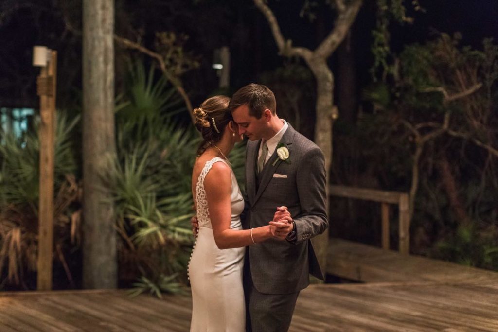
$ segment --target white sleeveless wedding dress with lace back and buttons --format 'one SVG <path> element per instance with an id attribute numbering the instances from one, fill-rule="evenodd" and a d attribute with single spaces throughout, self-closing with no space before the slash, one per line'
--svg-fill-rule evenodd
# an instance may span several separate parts
<path id="1" fill-rule="evenodd" d="M 188 273 L 192 289 L 192 321 L 190 331 L 245 331 L 246 309 L 242 272 L 245 248 L 218 249 L 209 218 L 204 179 L 219 157 L 206 162 L 197 181 L 195 200 L 199 232 L 190 257 Z M 232 173 L 231 229 L 242 229 L 240 215 L 244 210 L 235 174 Z"/>

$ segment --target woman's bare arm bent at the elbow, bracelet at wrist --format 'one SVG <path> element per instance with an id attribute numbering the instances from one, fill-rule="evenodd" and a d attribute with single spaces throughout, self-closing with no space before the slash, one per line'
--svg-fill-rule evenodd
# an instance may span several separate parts
<path id="1" fill-rule="evenodd" d="M 213 164 L 204 179 L 204 189 L 208 202 L 209 217 L 213 226 L 216 245 L 220 249 L 245 247 L 273 237 L 272 226 L 261 226 L 251 230 L 230 229 L 232 221 L 232 176 L 225 163 Z M 253 241 L 254 239 L 254 241 Z"/>

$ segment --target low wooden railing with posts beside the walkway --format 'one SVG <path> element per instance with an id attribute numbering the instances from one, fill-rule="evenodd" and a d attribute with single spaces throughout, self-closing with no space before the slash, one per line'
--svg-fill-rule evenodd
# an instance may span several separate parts
<path id="1" fill-rule="evenodd" d="M 407 193 L 331 185 L 329 195 L 381 204 L 382 249 L 389 249 L 389 204 L 396 204 L 399 209 L 399 252 L 402 254 L 410 252 L 410 218 Z"/>

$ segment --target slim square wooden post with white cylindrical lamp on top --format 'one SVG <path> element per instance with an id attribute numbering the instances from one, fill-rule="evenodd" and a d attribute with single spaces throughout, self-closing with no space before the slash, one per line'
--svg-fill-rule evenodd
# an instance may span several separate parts
<path id="1" fill-rule="evenodd" d="M 52 289 L 54 224 L 55 97 L 57 51 L 33 47 L 33 66 L 41 67 L 36 80 L 40 97 L 40 188 L 38 206 L 38 290 Z"/>

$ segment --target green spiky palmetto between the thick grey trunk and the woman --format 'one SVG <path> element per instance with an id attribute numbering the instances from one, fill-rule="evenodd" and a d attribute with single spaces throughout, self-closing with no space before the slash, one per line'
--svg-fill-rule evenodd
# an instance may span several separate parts
<path id="1" fill-rule="evenodd" d="M 122 280 L 137 280 L 133 294 L 177 292 L 186 284 L 194 215 L 192 166 L 200 136 L 181 127 L 180 98 L 164 78 L 131 67 L 129 93 L 117 105 L 117 159 L 106 177 L 114 190 Z M 242 175 L 244 149 L 233 153 Z"/>

